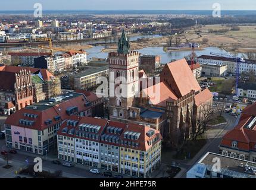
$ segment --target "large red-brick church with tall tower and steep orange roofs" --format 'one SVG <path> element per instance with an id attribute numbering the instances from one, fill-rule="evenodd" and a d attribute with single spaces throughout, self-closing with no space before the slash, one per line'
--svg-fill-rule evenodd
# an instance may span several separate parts
<path id="1" fill-rule="evenodd" d="M 117 52 L 110 52 L 108 60 L 113 87 L 110 120 L 149 125 L 160 130 L 163 137 L 170 137 L 174 147 L 191 138 L 202 107 L 210 107 L 213 96 L 208 89 L 201 89 L 186 59 L 166 64 L 160 80 L 150 83 L 149 79 L 155 77 L 139 70 L 139 52 L 130 50 L 123 31 Z"/>

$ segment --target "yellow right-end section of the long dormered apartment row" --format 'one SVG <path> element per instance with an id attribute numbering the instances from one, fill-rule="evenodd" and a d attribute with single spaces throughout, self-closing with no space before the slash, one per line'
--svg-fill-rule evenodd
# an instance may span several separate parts
<path id="1" fill-rule="evenodd" d="M 120 139 L 120 173 L 149 178 L 161 163 L 160 132 L 149 126 L 128 124 Z"/>

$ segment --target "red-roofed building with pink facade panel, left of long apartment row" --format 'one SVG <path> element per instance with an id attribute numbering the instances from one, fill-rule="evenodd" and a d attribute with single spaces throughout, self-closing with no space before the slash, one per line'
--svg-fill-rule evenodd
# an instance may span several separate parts
<path id="1" fill-rule="evenodd" d="M 26 106 L 6 119 L 6 145 L 45 154 L 57 147 L 57 131 L 69 116 L 91 116 L 91 109 L 85 95 L 74 92 Z"/>

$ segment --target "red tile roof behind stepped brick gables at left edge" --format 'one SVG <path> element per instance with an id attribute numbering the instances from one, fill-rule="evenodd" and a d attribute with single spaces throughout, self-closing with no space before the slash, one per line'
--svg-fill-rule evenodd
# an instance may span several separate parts
<path id="1" fill-rule="evenodd" d="M 54 77 L 54 75 L 51 74 L 47 69 L 38 69 L 38 68 L 32 68 L 27 66 L 0 66 L 0 71 L 6 71 L 6 72 L 20 72 L 21 70 L 26 69 L 26 71 L 30 71 L 33 74 L 38 74 L 39 72 L 42 74 L 43 80 L 50 80 L 51 77 Z"/>

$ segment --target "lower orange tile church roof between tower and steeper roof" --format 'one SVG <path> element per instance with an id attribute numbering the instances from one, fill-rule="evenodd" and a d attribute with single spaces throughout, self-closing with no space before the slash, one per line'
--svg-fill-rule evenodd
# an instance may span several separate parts
<path id="1" fill-rule="evenodd" d="M 159 91 L 158 91 L 159 89 Z M 166 101 L 177 100 L 178 97 L 166 82 L 161 82 L 143 89 L 143 93 L 149 98 L 153 105 L 166 107 Z"/>

